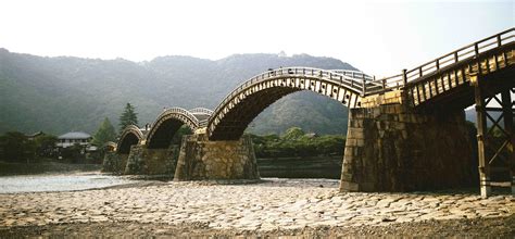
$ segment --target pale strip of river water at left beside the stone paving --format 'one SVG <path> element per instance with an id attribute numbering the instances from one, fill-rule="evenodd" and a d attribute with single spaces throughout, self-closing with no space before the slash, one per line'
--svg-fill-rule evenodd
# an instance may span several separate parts
<path id="1" fill-rule="evenodd" d="M 135 183 L 100 173 L 1 176 L 0 193 L 75 191 Z"/>

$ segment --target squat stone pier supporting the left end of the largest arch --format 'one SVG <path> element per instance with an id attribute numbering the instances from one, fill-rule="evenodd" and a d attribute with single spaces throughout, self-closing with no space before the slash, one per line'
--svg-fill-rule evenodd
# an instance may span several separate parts
<path id="1" fill-rule="evenodd" d="M 252 140 L 210 141 L 204 134 L 183 138 L 174 180 L 259 179 Z"/>

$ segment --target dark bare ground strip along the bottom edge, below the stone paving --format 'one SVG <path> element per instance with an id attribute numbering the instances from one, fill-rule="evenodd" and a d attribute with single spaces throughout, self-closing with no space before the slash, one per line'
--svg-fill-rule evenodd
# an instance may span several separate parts
<path id="1" fill-rule="evenodd" d="M 208 224 L 80 223 L 0 229 L 0 238 L 70 237 L 193 237 L 193 238 L 334 238 L 354 236 L 386 237 L 515 237 L 515 215 L 497 218 L 425 221 L 387 226 L 305 227 L 272 231 L 212 229 Z"/>

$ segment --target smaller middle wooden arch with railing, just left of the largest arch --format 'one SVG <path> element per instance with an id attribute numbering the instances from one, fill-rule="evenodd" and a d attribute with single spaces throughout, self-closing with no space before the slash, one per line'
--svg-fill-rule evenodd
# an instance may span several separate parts
<path id="1" fill-rule="evenodd" d="M 152 128 L 150 128 L 147 135 L 147 148 L 167 148 L 175 133 L 177 133 L 183 125 L 187 125 L 194 131 L 199 127 L 199 120 L 196 114 L 183 108 L 171 108 L 163 111 L 154 124 L 152 124 Z"/>

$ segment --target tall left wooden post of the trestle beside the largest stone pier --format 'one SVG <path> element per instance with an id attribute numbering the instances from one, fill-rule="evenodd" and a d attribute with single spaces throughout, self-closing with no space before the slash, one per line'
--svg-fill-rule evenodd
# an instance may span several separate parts
<path id="1" fill-rule="evenodd" d="M 492 188 L 490 186 L 490 167 L 486 159 L 485 135 L 487 133 L 487 116 L 485 97 L 480 84 L 480 78 L 477 73 L 470 73 L 470 81 L 474 85 L 476 114 L 477 114 L 477 153 L 479 160 L 479 187 L 481 197 L 487 198 L 491 194 Z"/>

